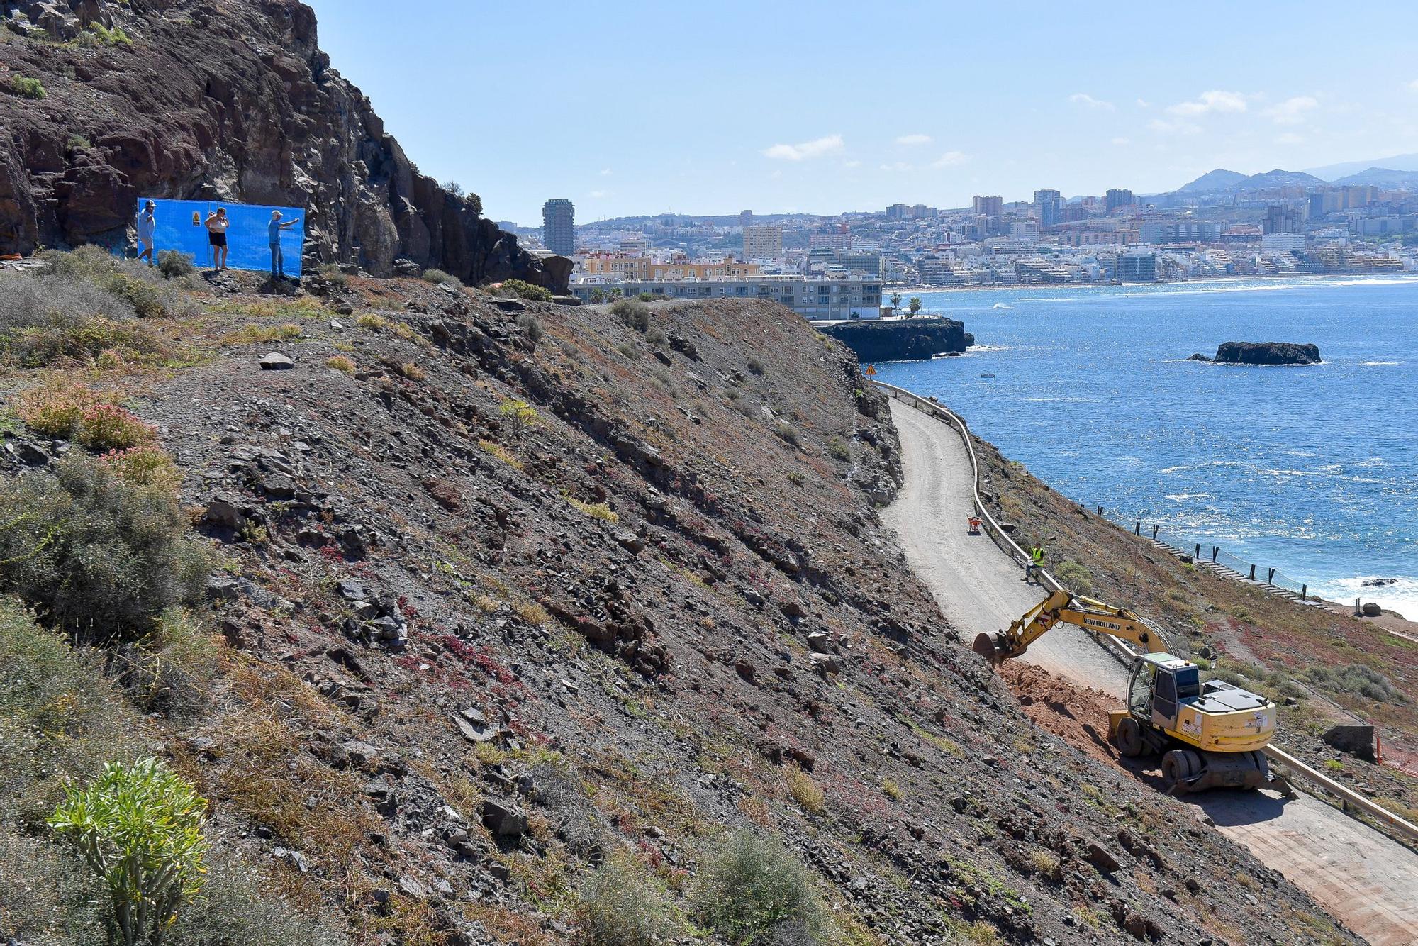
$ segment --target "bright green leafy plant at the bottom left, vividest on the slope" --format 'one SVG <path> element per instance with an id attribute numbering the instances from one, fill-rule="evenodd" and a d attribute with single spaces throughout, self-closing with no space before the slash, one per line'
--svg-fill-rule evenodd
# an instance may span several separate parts
<path id="1" fill-rule="evenodd" d="M 207 803 L 157 759 L 112 762 L 50 817 L 104 882 L 125 946 L 160 943 L 203 884 Z"/>

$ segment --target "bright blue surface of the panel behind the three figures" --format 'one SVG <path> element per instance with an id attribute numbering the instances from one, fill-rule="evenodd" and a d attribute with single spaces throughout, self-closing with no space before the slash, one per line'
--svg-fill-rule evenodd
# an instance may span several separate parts
<path id="1" fill-rule="evenodd" d="M 199 269 L 211 268 L 211 245 L 207 243 L 207 214 L 217 207 L 227 208 L 231 226 L 227 228 L 227 265 L 233 269 L 271 269 L 271 240 L 267 230 L 271 211 L 279 210 L 285 223 L 299 220 L 289 230 L 281 231 L 281 252 L 285 258 L 285 275 L 299 278 L 301 252 L 305 247 L 305 211 L 299 207 L 264 207 L 259 204 L 234 204 L 213 200 L 162 200 L 139 197 L 135 223 L 143 204 L 152 200 L 157 208 L 157 230 L 153 235 L 156 258 L 163 250 L 179 250 L 190 254 Z"/>

